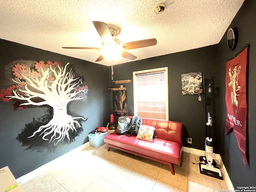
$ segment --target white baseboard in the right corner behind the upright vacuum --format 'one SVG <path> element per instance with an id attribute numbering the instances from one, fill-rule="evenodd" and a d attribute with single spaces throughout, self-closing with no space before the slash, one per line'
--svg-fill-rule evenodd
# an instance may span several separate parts
<path id="1" fill-rule="evenodd" d="M 199 149 L 194 149 L 194 148 L 184 147 L 183 146 L 182 147 L 182 151 L 187 152 L 187 153 L 192 153 L 192 154 L 194 153 L 194 154 L 200 155 L 200 156 L 204 156 L 204 151 L 203 150 L 199 150 Z M 233 184 L 232 184 L 232 182 L 231 182 L 231 180 L 230 180 L 230 178 L 228 176 L 228 172 L 227 172 L 227 170 L 226 170 L 226 168 L 224 166 L 224 163 L 222 161 L 222 158 L 221 158 L 220 154 L 214 153 L 213 154 L 213 158 L 219 161 L 219 163 L 220 163 L 220 170 L 221 170 L 221 172 L 223 174 L 223 177 L 225 178 L 225 181 L 226 181 L 226 184 L 228 186 L 228 189 L 233 191 L 234 190 Z"/>

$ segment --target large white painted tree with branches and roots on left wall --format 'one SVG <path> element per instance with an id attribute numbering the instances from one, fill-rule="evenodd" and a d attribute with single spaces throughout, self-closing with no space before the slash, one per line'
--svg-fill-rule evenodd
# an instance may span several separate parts
<path id="1" fill-rule="evenodd" d="M 74 100 L 85 100 L 88 87 L 81 86 L 82 78 L 75 77 L 72 68 L 66 72 L 69 63 L 64 67 L 56 62 L 54 64 L 50 61 L 46 65 L 42 61 L 38 62 L 35 65 L 37 72 L 16 64 L 13 71 L 17 78 L 12 80 L 17 86 L 13 87 L 13 94 L 6 97 L 21 100 L 20 106 L 51 106 L 53 118 L 28 138 L 39 134 L 43 140 L 49 140 L 49 143 L 56 145 L 64 138 L 70 141 L 69 132 L 76 132 L 77 128 L 82 127 L 78 119 L 86 120 L 82 116 L 68 115 L 67 104 Z"/>

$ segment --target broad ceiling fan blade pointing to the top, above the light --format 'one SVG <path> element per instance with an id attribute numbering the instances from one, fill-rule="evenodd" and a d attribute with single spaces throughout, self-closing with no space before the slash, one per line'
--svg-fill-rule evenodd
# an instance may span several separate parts
<path id="1" fill-rule="evenodd" d="M 113 42 L 112 34 L 110 33 L 108 25 L 106 23 L 100 21 L 93 21 L 93 24 L 104 43 Z"/>

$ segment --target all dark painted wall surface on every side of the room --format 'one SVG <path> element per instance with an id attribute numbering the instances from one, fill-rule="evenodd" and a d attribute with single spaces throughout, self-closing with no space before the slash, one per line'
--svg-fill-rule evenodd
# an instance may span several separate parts
<path id="1" fill-rule="evenodd" d="M 114 66 L 114 80 L 132 80 L 132 72 L 152 68 L 168 67 L 168 93 L 169 93 L 169 120 L 182 122 L 183 145 L 204 150 L 206 114 L 204 98 L 198 102 L 198 96 L 182 96 L 181 74 L 199 72 L 205 75 L 206 84 L 212 84 L 212 94 L 206 94 L 207 112 L 211 112 L 213 119 L 212 138 L 214 139 L 214 152 L 219 153 L 224 161 L 234 188 L 238 186 L 255 186 L 256 178 L 256 2 L 245 0 L 242 8 L 234 18 L 230 27 L 238 29 L 238 44 L 234 51 L 226 45 L 226 32 L 219 44 L 129 62 Z M 210 38 L 210 37 L 209 37 Z M 238 149 L 234 132 L 225 135 L 225 69 L 226 60 L 238 54 L 244 46 L 250 43 L 250 56 L 248 67 L 248 164 L 244 166 L 242 155 Z M 118 87 L 111 81 L 110 67 L 92 64 L 90 62 L 70 58 L 59 54 L 31 48 L 28 46 L 0 40 L 0 66 L 4 67 L 13 60 L 52 60 L 65 64 L 70 62 L 75 65 L 76 71 L 84 76 L 84 83 L 89 87 L 87 102 L 74 102 L 70 109 L 78 114 L 88 116 L 88 121 L 83 124 L 84 133 L 64 148 L 54 153 L 35 152 L 25 150 L 15 139 L 24 128 L 24 124 L 32 118 L 44 113 L 43 108 L 30 108 L 24 111 L 12 110 L 12 104 L 0 102 L 0 167 L 10 166 L 17 177 L 22 176 L 39 166 L 65 154 L 88 141 L 87 134 L 96 126 L 104 126 L 112 114 L 112 94 L 110 87 Z M 0 75 L 0 88 L 4 78 Z M 133 82 L 124 84 L 128 93 L 128 115 L 134 114 L 133 108 Z M 152 90 L 154 94 L 154 90 Z M 100 118 L 99 118 L 100 117 Z M 192 138 L 192 144 L 187 144 L 187 138 Z M 4 157 L 4 158 L 2 158 Z"/>

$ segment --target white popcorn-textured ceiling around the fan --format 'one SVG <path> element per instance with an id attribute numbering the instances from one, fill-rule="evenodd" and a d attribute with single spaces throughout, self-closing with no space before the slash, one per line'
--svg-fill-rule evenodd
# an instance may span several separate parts
<path id="1" fill-rule="evenodd" d="M 94 62 L 102 47 L 92 21 L 118 28 L 122 43 L 156 38 L 127 50 L 141 60 L 218 44 L 244 0 L 0 0 L 0 38 Z M 166 8 L 154 13 L 159 3 Z M 130 62 L 126 58 L 115 64 Z M 67 61 L 68 62 L 68 61 Z M 110 66 L 104 59 L 98 64 Z"/>

